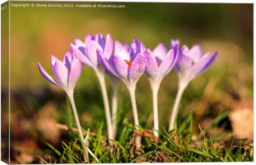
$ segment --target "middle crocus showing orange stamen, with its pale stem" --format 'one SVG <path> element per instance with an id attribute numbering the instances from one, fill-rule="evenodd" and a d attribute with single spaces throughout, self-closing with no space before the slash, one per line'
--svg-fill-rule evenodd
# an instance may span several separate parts
<path id="1" fill-rule="evenodd" d="M 115 41 L 114 54 L 107 59 L 104 52 L 97 50 L 98 57 L 102 61 L 107 71 L 120 78 L 128 88 L 130 99 L 133 107 L 133 117 L 135 127 L 139 125 L 137 114 L 137 105 L 135 100 L 136 83 L 140 76 L 144 73 L 146 67 L 146 58 L 143 52 L 145 47 L 142 42 L 138 42 L 135 38 L 130 45 L 122 45 L 120 42 Z M 138 129 L 136 127 L 136 129 Z M 140 137 L 136 137 L 135 142 L 138 146 L 141 145 Z"/>

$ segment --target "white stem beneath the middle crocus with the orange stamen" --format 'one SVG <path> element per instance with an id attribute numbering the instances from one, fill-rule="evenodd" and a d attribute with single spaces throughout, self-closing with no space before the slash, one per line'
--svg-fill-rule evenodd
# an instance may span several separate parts
<path id="1" fill-rule="evenodd" d="M 138 111 L 137 111 L 137 105 L 136 105 L 136 99 L 135 99 L 135 87 L 128 87 L 129 93 L 130 93 L 130 100 L 132 103 L 133 108 L 133 119 L 134 119 L 134 125 L 135 129 L 139 130 L 137 125 L 139 124 L 139 117 L 138 117 Z M 141 146 L 141 137 L 137 136 L 135 137 L 135 144 L 140 147 Z"/>

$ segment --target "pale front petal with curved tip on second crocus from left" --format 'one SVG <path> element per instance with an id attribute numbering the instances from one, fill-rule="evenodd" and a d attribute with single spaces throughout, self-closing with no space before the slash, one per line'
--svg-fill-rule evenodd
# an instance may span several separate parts
<path id="1" fill-rule="evenodd" d="M 97 67 L 98 65 L 98 58 L 97 58 L 97 52 L 96 50 L 100 50 L 101 52 L 103 52 L 102 47 L 96 42 L 96 41 L 89 41 L 86 44 L 86 52 L 85 54 L 88 55 L 89 60 L 91 61 L 91 63 Z"/>

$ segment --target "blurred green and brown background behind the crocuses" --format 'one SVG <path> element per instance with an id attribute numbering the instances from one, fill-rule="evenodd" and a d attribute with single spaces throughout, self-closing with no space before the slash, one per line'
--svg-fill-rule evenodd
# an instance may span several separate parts
<path id="1" fill-rule="evenodd" d="M 210 132 L 214 140 L 230 134 L 237 134 L 239 138 L 252 137 L 252 4 L 10 3 L 125 5 L 125 8 L 10 7 L 11 163 L 36 163 L 33 160 L 38 159 L 36 155 L 43 155 L 49 150 L 44 141 L 59 149 L 62 149 L 62 140 L 69 141 L 69 133 L 60 130 L 56 124 L 73 127 L 73 113 L 68 108 L 64 91 L 42 77 L 38 63 L 53 75 L 50 56 L 53 54 L 62 59 L 70 43 L 76 38 L 84 40 L 88 33 L 95 35 L 101 32 L 104 36 L 110 33 L 114 40 L 120 42 L 132 42 L 136 37 L 152 50 L 159 42 L 169 48 L 170 39 L 179 39 L 181 45 L 189 47 L 200 44 L 204 53 L 218 51 L 216 62 L 192 80 L 185 90 L 178 125 L 193 109 L 196 110 L 194 130 L 198 129 L 198 123 L 206 127 L 219 114 L 230 112 L 218 125 L 219 129 Z M 2 54 L 1 59 L 2 67 L 6 68 L 7 54 Z M 7 77 L 7 72 L 2 72 L 1 76 Z M 107 76 L 106 81 L 110 99 L 111 85 Z M 2 109 L 6 109 L 4 100 L 7 100 L 8 81 L 1 83 Z M 164 127 L 168 126 L 176 91 L 177 75 L 173 70 L 164 78 L 159 90 L 159 124 Z M 92 132 L 103 127 L 106 136 L 100 86 L 90 68 L 83 67 L 74 97 L 81 125 Z M 136 99 L 140 124 L 151 129 L 152 94 L 146 75 L 137 83 Z M 129 95 L 123 83 L 119 89 L 118 107 L 121 129 L 124 120 L 133 123 Z M 8 113 L 2 111 L 2 118 L 8 118 Z M 7 122 L 2 123 L 2 134 L 7 133 L 7 126 Z M 2 140 L 1 146 L 4 151 L 7 141 Z M 2 152 L 1 158 L 7 160 L 8 152 Z"/>

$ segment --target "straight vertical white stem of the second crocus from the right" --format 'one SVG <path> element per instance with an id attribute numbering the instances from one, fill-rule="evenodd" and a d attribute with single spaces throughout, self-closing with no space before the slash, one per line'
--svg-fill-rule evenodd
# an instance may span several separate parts
<path id="1" fill-rule="evenodd" d="M 149 79 L 150 82 L 150 87 L 152 90 L 152 97 L 153 97 L 153 114 L 154 114 L 154 135 L 158 137 L 158 130 L 159 130 L 159 121 L 158 121 L 158 91 L 159 91 L 159 86 L 161 83 L 161 80 L 156 80 L 153 81 Z M 157 131 L 156 131 L 157 130 Z"/>

